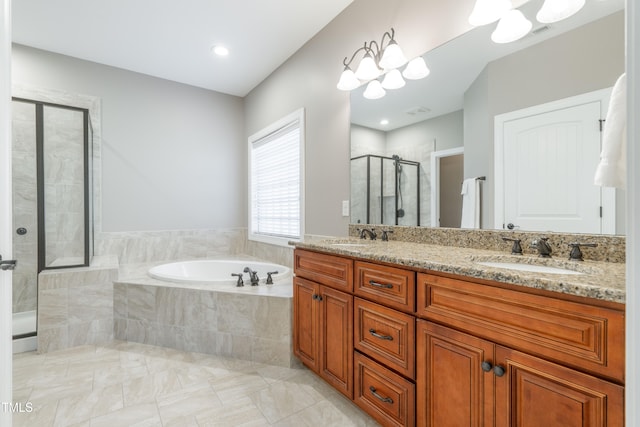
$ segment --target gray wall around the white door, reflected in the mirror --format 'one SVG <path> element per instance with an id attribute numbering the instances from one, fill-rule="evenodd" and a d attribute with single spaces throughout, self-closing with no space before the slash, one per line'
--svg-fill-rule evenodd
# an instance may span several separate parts
<path id="1" fill-rule="evenodd" d="M 624 72 L 624 46 L 617 12 L 493 61 L 476 79 L 464 99 L 464 174 L 487 176 L 482 228 L 494 228 L 494 116 L 613 86 Z"/>

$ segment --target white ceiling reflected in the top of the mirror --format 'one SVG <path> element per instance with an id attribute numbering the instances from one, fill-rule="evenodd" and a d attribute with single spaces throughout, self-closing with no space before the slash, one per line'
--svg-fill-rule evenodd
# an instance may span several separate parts
<path id="1" fill-rule="evenodd" d="M 587 1 L 576 15 L 549 24 L 546 31 L 537 31 L 544 26 L 535 20 L 542 3 L 543 0 L 529 0 L 519 7 L 533 22 L 533 31 L 516 42 L 493 43 L 491 33 L 496 24 L 477 27 L 425 53 L 423 57 L 431 70 L 426 78 L 407 81 L 405 87 L 389 90 L 385 97 L 376 100 L 362 96 L 364 87 L 353 90 L 351 122 L 390 131 L 458 111 L 463 107 L 464 93 L 487 63 L 624 9 L 624 0 Z M 411 35 L 396 32 L 396 40 L 400 46 L 406 37 Z M 382 125 L 381 119 L 387 119 L 389 123 Z"/>

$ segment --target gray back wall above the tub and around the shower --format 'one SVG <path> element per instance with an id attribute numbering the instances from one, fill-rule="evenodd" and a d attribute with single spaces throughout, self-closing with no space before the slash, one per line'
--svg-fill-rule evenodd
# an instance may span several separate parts
<path id="1" fill-rule="evenodd" d="M 25 46 L 14 84 L 102 100 L 102 231 L 246 226 L 241 98 Z"/>

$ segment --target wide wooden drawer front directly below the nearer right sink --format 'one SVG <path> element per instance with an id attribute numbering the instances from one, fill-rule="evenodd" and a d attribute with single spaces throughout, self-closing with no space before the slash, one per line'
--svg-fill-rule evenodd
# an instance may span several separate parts
<path id="1" fill-rule="evenodd" d="M 418 275 L 417 314 L 624 382 L 624 313 L 466 280 Z"/>

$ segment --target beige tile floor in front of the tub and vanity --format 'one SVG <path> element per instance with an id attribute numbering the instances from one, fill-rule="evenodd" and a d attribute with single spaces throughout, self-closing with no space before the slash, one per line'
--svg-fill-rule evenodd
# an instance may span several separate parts
<path id="1" fill-rule="evenodd" d="M 114 341 L 16 354 L 14 427 L 375 426 L 306 368 Z"/>

